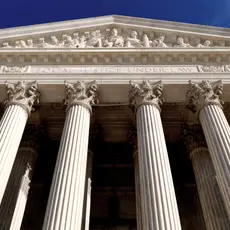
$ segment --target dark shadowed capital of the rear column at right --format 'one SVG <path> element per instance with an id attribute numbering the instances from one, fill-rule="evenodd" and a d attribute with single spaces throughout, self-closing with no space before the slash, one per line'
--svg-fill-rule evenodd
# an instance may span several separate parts
<path id="1" fill-rule="evenodd" d="M 204 133 L 199 124 L 183 124 L 181 127 L 181 138 L 188 149 L 190 157 L 192 157 L 196 149 L 207 148 Z"/>

